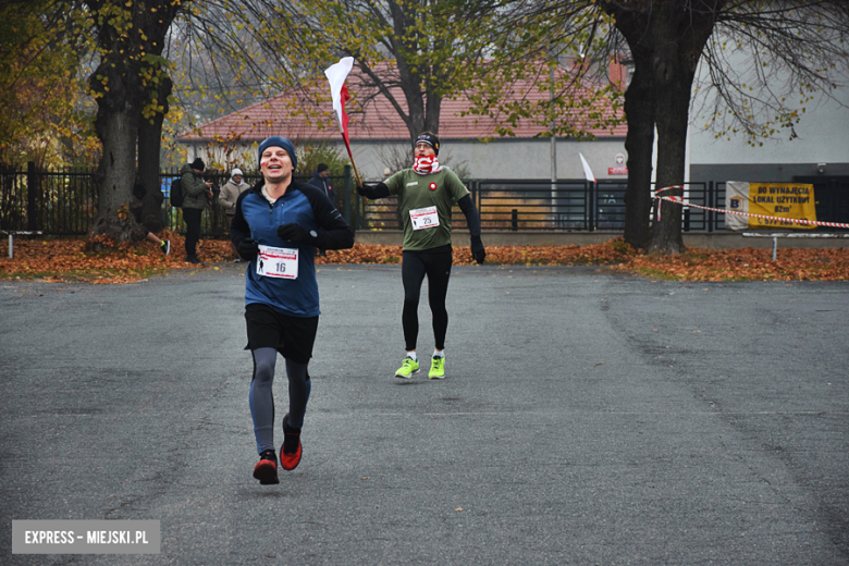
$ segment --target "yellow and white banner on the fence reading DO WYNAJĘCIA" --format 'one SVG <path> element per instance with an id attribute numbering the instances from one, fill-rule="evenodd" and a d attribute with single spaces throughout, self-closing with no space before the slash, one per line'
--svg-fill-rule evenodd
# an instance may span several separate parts
<path id="1" fill-rule="evenodd" d="M 814 225 L 789 219 L 816 220 L 813 185 L 803 183 L 726 183 L 726 210 L 771 218 L 726 214 L 729 230 L 813 230 Z M 783 220 L 788 219 L 788 220 Z"/>

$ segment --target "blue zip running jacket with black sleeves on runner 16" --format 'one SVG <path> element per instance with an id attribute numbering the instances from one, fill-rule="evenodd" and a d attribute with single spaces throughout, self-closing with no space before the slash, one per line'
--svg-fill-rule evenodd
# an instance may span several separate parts
<path id="1" fill-rule="evenodd" d="M 246 237 L 253 237 L 257 244 L 297 248 L 298 276 L 258 275 L 258 258 L 254 258 L 245 276 L 245 304 L 261 303 L 293 317 L 317 317 L 321 312 L 316 281 L 316 249 L 350 248 L 354 246 L 354 232 L 318 188 L 293 180 L 286 194 L 272 205 L 262 196 L 263 185 L 264 182 L 260 181 L 239 195 L 230 239 L 236 247 Z M 315 245 L 281 239 L 278 227 L 290 222 L 298 223 L 307 232 L 315 232 Z"/>

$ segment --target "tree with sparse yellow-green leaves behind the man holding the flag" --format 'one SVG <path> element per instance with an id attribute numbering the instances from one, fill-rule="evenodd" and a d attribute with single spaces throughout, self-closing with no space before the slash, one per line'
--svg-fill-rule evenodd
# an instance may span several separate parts
<path id="1" fill-rule="evenodd" d="M 492 70 L 516 51 L 515 41 L 500 42 L 497 13 L 481 12 L 469 25 L 460 8 L 453 0 L 305 0 L 294 4 L 292 21 L 311 38 L 304 59 L 327 66 L 353 57 L 357 102 L 368 109 L 385 98 L 413 140 L 426 130 L 439 133 L 442 101 L 494 77 Z"/>

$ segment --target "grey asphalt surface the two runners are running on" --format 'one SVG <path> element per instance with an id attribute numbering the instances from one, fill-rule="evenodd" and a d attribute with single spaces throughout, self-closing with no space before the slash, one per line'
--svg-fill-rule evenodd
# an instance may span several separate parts
<path id="1" fill-rule="evenodd" d="M 447 379 L 403 381 L 399 267 L 323 266 L 304 459 L 260 487 L 218 267 L 0 282 L 0 563 L 849 564 L 846 283 L 455 267 Z M 24 519 L 161 554 L 13 555 Z"/>

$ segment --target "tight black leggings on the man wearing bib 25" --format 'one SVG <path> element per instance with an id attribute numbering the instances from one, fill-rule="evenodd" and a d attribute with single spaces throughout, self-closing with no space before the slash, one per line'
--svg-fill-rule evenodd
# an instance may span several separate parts
<path id="1" fill-rule="evenodd" d="M 445 295 L 448 294 L 448 279 L 453 263 L 451 247 L 439 251 L 404 251 L 401 279 L 404 282 L 404 312 L 401 323 L 404 327 L 404 341 L 407 350 L 416 349 L 419 335 L 419 296 L 421 282 L 428 275 L 428 303 L 433 313 L 433 337 L 436 349 L 445 348 L 445 332 L 448 329 L 448 311 L 445 309 Z"/>

